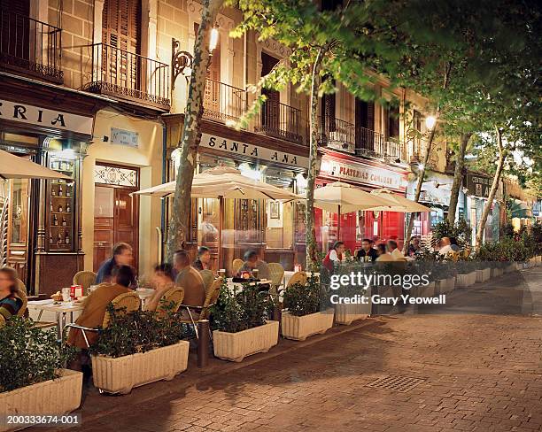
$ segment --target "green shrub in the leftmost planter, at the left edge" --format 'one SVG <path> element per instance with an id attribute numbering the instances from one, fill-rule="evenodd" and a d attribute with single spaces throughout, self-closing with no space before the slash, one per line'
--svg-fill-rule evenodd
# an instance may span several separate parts
<path id="1" fill-rule="evenodd" d="M 57 330 L 12 317 L 0 328 L 0 392 L 58 378 L 75 350 L 57 341 Z"/>

